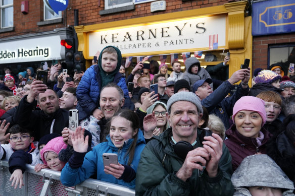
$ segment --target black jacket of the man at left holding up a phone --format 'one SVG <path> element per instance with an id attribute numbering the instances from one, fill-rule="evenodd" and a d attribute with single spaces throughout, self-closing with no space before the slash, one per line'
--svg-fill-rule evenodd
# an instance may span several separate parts
<path id="1" fill-rule="evenodd" d="M 14 122 L 20 126 L 33 130 L 35 141 L 38 141 L 42 136 L 51 134 L 51 126 L 53 120 L 53 132 L 61 134 L 64 127 L 69 126 L 69 112 L 59 108 L 55 113 L 47 115 L 43 110 L 34 110 L 36 101 L 27 102 L 27 95 L 22 98 L 19 106 L 14 113 Z"/>

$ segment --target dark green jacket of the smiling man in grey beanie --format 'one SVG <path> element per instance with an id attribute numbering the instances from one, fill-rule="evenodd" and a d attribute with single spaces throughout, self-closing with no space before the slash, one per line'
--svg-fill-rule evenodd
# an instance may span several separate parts
<path id="1" fill-rule="evenodd" d="M 202 147 L 200 134 L 201 130 L 198 130 L 196 148 Z M 191 177 L 184 182 L 176 176 L 184 160 L 174 153 L 170 145 L 171 135 L 172 129 L 168 128 L 159 137 L 154 137 L 143 149 L 136 172 L 136 195 L 230 196 L 233 194 L 234 188 L 230 181 L 231 156 L 224 144 L 216 177 L 210 178 L 206 171 L 199 177 L 199 170 L 195 169 Z"/>

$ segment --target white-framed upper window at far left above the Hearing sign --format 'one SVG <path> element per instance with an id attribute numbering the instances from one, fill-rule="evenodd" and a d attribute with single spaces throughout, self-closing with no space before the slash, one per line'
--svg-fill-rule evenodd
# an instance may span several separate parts
<path id="1" fill-rule="evenodd" d="M 0 0 L 1 29 L 13 27 L 13 0 Z"/>

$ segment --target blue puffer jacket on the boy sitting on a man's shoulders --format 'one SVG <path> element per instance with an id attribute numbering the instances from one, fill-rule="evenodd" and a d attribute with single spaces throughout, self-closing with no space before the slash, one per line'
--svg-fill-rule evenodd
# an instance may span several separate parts
<path id="1" fill-rule="evenodd" d="M 85 119 L 92 114 L 94 109 L 98 108 L 101 93 L 101 75 L 99 65 L 96 64 L 86 70 L 77 87 L 77 109 L 79 110 L 79 120 Z M 123 89 L 125 104 L 124 107 L 129 108 L 131 103 L 128 95 L 126 80 L 121 73 L 117 73 L 114 83 Z M 132 109 L 132 108 L 130 108 Z"/>

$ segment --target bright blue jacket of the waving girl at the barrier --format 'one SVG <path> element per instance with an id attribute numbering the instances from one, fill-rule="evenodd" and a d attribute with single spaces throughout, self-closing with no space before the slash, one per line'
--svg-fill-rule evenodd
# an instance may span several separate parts
<path id="1" fill-rule="evenodd" d="M 131 182 L 125 182 L 124 180 L 119 180 L 115 178 L 111 174 L 106 174 L 104 172 L 103 162 L 104 153 L 115 153 L 118 155 L 118 162 L 120 164 L 127 165 L 129 155 L 125 157 L 125 154 L 127 153 L 130 145 L 132 144 L 133 139 L 129 139 L 127 142 L 125 142 L 121 150 L 114 146 L 110 139 L 110 136 L 107 137 L 107 140 L 108 142 L 100 143 L 96 145 L 92 151 L 88 152 L 84 157 L 83 165 L 78 169 L 72 169 L 69 166 L 69 163 L 67 163 L 61 173 L 61 182 L 65 186 L 74 186 L 88 179 L 91 175 L 95 174 L 96 172 L 97 180 L 120 184 L 134 189 L 135 179 L 133 179 Z M 134 157 L 130 165 L 135 172 L 137 171 L 140 154 L 144 147 L 145 141 L 142 135 L 142 131 L 138 130 Z"/>

